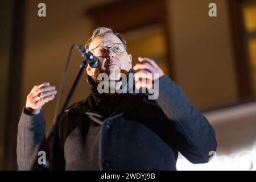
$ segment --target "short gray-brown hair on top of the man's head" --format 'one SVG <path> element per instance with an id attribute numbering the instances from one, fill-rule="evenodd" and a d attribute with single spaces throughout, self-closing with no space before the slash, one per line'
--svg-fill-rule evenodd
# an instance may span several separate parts
<path id="1" fill-rule="evenodd" d="M 86 42 L 85 44 L 85 48 L 88 49 L 90 46 L 90 43 L 92 43 L 92 41 L 97 37 L 97 36 L 104 36 L 106 34 L 113 34 L 115 36 L 117 36 L 121 42 L 123 43 L 123 46 L 125 47 L 125 50 L 127 53 L 128 52 L 128 48 L 127 48 L 127 42 L 125 40 L 125 38 L 123 38 L 122 34 L 113 31 L 111 28 L 107 28 L 107 27 L 98 27 L 93 31 L 92 36 L 90 37 L 90 39 Z"/>

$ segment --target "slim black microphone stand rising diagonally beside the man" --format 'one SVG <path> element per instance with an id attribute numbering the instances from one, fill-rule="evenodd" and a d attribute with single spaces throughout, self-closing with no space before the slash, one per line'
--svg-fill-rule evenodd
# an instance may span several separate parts
<path id="1" fill-rule="evenodd" d="M 60 111 L 60 113 L 57 115 L 55 123 L 52 126 L 52 132 L 51 134 L 48 136 L 48 138 L 46 140 L 44 140 L 43 144 L 40 146 L 39 151 L 44 151 L 46 152 L 46 164 L 39 164 L 38 163 L 38 159 L 40 156 L 38 156 L 38 158 L 36 158 L 37 160 L 34 163 L 34 166 L 32 167 L 32 170 L 40 170 L 40 171 L 52 171 L 53 169 L 55 169 L 55 163 L 53 162 L 53 152 L 54 152 L 54 147 L 55 147 L 55 137 L 57 134 L 57 131 L 59 130 L 59 122 L 61 121 L 61 119 L 63 119 L 63 115 L 64 115 L 64 111 L 65 108 L 68 106 L 69 101 L 71 100 L 73 93 L 75 92 L 75 89 L 77 87 L 77 84 L 80 81 L 80 78 L 82 76 L 82 72 L 84 72 L 84 69 L 87 67 L 87 62 L 88 62 L 88 56 L 84 56 L 84 60 L 82 61 L 82 64 L 80 65 L 80 71 L 76 77 L 75 82 L 72 85 L 71 90 L 69 91 L 68 97 L 64 102 L 64 105 Z M 48 160 L 47 160 L 47 156 L 48 156 Z"/>

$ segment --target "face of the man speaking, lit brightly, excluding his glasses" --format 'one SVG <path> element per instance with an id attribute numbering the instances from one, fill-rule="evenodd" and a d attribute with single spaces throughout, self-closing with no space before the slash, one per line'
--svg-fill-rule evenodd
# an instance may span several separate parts
<path id="1" fill-rule="evenodd" d="M 89 51 L 97 47 L 110 47 L 115 43 L 121 43 L 121 40 L 113 34 L 105 34 L 104 36 L 97 36 L 89 45 Z M 126 51 L 121 53 L 113 52 L 112 48 L 105 49 L 104 55 L 97 55 L 97 52 L 92 51 L 94 56 L 101 58 L 100 68 L 91 68 L 88 64 L 86 72 L 92 76 L 94 80 L 97 80 L 97 76 L 100 73 L 106 73 L 109 76 L 109 80 L 118 81 L 120 79 L 120 73 L 127 73 L 131 69 L 131 55 Z"/>

